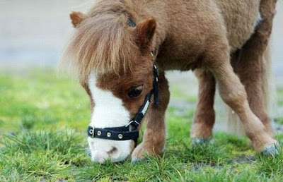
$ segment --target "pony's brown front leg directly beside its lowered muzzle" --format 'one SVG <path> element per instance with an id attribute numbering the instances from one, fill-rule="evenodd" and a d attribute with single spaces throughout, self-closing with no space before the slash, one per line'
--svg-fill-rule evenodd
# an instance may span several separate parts
<path id="1" fill-rule="evenodd" d="M 145 155 L 160 155 L 163 152 L 166 138 L 165 111 L 170 92 L 164 73 L 159 73 L 159 105 L 151 104 L 146 114 L 146 129 L 141 144 L 132 153 L 132 162 L 144 159 Z"/>

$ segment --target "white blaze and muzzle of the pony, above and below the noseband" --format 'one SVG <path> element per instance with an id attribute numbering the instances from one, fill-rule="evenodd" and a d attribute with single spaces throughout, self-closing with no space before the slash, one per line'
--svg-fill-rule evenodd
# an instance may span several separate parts
<path id="1" fill-rule="evenodd" d="M 93 73 L 90 75 L 88 87 L 95 105 L 90 126 L 95 128 L 111 128 L 125 126 L 129 123 L 129 111 L 124 107 L 122 99 L 115 97 L 109 90 L 102 90 L 97 87 L 97 78 Z M 119 162 L 127 158 L 131 152 L 131 140 L 115 141 L 88 138 L 88 145 L 93 161 L 100 163 L 103 163 L 108 158 L 112 162 Z M 108 152 L 113 147 L 117 148 L 117 152 L 109 155 Z"/>

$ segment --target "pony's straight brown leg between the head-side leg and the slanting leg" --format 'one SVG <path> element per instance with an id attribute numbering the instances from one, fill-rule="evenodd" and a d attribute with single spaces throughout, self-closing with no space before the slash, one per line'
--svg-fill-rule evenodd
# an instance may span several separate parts
<path id="1" fill-rule="evenodd" d="M 212 128 L 215 122 L 213 105 L 216 83 L 210 71 L 199 68 L 195 71 L 195 75 L 199 80 L 199 92 L 190 137 L 192 143 L 202 144 L 212 138 Z"/>

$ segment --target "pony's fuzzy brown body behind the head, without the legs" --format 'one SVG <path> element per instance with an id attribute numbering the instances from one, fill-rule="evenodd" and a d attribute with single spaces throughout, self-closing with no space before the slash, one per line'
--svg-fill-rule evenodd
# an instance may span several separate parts
<path id="1" fill-rule="evenodd" d="M 159 59 L 165 69 L 182 70 L 197 68 L 204 52 L 214 49 L 219 42 L 228 44 L 231 52 L 243 47 L 254 32 L 260 7 L 260 0 L 167 0 L 166 3 L 170 7 L 168 32 Z"/>

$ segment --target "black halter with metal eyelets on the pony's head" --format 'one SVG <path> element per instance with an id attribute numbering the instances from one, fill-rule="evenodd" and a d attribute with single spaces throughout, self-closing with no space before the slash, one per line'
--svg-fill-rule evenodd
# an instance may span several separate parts
<path id="1" fill-rule="evenodd" d="M 153 55 L 153 53 L 151 54 Z M 154 95 L 154 104 L 159 104 L 158 72 L 155 64 L 153 73 L 154 82 L 152 90 L 146 95 L 144 98 L 144 103 L 141 105 L 141 107 L 139 107 L 139 111 L 126 126 L 112 128 L 94 128 L 93 126 L 88 126 L 88 136 L 91 138 L 102 138 L 107 140 L 134 140 L 134 142 L 137 143 L 137 139 L 139 138 L 138 127 L 141 124 L 141 120 L 144 118 L 146 111 L 149 109 L 152 95 Z"/>

